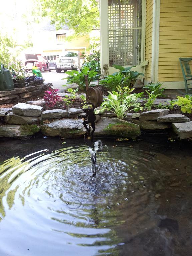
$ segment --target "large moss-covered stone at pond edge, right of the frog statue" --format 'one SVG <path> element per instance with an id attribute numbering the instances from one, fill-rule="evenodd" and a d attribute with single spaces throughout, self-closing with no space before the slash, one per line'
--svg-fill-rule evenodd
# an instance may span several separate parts
<path id="1" fill-rule="evenodd" d="M 95 136 L 115 136 L 119 138 L 135 138 L 140 134 L 139 125 L 118 118 L 107 117 L 99 119 L 94 132 Z"/>

